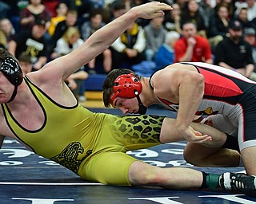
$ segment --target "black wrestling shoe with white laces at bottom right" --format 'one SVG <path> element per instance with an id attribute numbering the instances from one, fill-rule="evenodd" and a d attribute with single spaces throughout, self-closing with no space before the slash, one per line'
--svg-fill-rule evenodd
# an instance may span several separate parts
<path id="1" fill-rule="evenodd" d="M 256 177 L 243 173 L 226 172 L 219 177 L 219 185 L 224 190 L 232 190 L 249 196 L 256 196 Z"/>

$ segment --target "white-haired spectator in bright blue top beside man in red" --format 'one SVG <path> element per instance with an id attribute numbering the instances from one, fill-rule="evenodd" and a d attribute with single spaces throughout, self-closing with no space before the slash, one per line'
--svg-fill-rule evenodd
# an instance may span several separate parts
<path id="1" fill-rule="evenodd" d="M 154 56 L 156 69 L 162 69 L 166 65 L 174 63 L 174 44 L 178 41 L 180 34 L 176 31 L 166 33 L 165 42 L 160 46 Z"/>

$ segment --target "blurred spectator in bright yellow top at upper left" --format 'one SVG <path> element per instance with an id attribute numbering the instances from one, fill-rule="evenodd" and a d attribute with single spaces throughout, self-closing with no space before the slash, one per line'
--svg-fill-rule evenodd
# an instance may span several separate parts
<path id="1" fill-rule="evenodd" d="M 56 16 L 50 18 L 50 26 L 48 29 L 48 33 L 50 34 L 50 36 L 54 35 L 54 31 L 58 23 L 66 20 L 66 12 L 68 10 L 68 7 L 66 6 L 66 3 L 60 2 L 56 6 L 55 10 Z"/>

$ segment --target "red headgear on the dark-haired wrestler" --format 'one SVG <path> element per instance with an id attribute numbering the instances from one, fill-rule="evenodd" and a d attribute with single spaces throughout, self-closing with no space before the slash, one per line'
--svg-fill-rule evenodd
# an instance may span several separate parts
<path id="1" fill-rule="evenodd" d="M 110 104 L 117 96 L 134 98 L 142 92 L 142 83 L 132 73 L 122 74 L 114 80 L 114 96 L 110 98 Z"/>

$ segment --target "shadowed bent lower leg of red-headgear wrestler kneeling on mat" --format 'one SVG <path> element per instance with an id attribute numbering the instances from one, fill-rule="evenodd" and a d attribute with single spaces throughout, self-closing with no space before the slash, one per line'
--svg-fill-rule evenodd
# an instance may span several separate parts
<path id="1" fill-rule="evenodd" d="M 184 159 L 197 167 L 238 167 L 240 154 L 227 148 L 205 147 L 197 143 L 187 143 Z"/>

